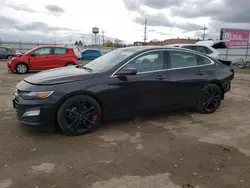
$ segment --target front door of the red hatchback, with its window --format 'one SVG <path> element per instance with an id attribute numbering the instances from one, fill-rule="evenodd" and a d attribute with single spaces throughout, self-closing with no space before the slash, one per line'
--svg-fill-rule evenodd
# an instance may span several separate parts
<path id="1" fill-rule="evenodd" d="M 32 52 L 29 62 L 32 70 L 46 70 L 55 66 L 52 48 L 39 48 Z"/>

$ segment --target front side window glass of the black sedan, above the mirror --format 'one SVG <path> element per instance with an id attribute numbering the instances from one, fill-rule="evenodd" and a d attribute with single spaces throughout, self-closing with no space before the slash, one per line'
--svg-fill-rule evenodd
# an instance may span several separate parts
<path id="1" fill-rule="evenodd" d="M 136 68 L 137 72 L 161 70 L 164 68 L 164 53 L 149 52 L 132 60 L 125 68 Z"/>

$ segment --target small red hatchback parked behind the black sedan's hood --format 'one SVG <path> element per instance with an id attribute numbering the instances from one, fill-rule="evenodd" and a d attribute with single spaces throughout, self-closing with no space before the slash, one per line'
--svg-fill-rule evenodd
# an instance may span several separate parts
<path id="1" fill-rule="evenodd" d="M 47 70 L 78 65 L 77 57 L 70 47 L 39 46 L 8 62 L 8 70 L 24 74 L 30 70 Z"/>

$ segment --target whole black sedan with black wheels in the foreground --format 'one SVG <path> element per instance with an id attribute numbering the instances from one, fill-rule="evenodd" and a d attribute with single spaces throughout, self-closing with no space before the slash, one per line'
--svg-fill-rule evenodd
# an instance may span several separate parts
<path id="1" fill-rule="evenodd" d="M 84 66 L 43 71 L 16 86 L 13 106 L 22 124 L 88 133 L 101 120 L 139 112 L 196 107 L 209 114 L 231 89 L 230 67 L 174 47 L 127 47 Z"/>

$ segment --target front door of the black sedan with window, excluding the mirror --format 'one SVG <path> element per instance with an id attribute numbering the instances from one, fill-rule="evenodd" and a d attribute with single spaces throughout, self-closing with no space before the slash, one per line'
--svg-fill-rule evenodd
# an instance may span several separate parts
<path id="1" fill-rule="evenodd" d="M 168 104 L 165 51 L 143 53 L 122 68 L 136 68 L 136 75 L 111 77 L 115 89 L 109 94 L 111 113 L 131 113 L 164 107 Z M 121 69 L 122 69 L 121 68 Z M 119 70 L 119 69 L 118 69 Z"/>

